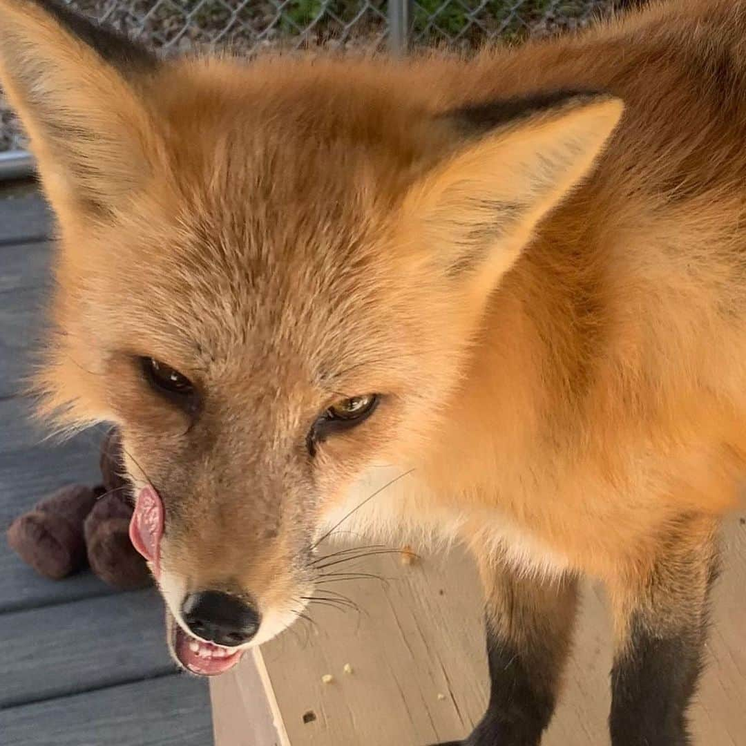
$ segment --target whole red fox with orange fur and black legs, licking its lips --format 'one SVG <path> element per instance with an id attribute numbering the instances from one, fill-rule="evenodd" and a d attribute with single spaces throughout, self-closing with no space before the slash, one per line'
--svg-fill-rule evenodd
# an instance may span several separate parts
<path id="1" fill-rule="evenodd" d="M 291 624 L 327 533 L 445 536 L 486 596 L 463 744 L 539 743 L 581 575 L 614 746 L 689 743 L 746 466 L 746 4 L 246 63 L 0 0 L 0 80 L 58 220 L 40 413 L 121 427 L 184 668 Z"/>

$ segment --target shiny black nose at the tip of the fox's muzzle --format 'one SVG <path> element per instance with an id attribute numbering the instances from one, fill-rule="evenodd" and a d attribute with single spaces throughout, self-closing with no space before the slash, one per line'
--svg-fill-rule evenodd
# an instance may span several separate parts
<path id="1" fill-rule="evenodd" d="M 196 636 L 229 648 L 248 642 L 259 629 L 259 612 L 221 591 L 190 593 L 181 614 Z"/>

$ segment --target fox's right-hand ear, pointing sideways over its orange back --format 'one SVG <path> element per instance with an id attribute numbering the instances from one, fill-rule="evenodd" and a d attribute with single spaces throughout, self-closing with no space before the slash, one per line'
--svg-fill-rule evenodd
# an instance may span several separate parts
<path id="1" fill-rule="evenodd" d="M 560 93 L 449 114 L 450 137 L 463 144 L 410 188 L 407 230 L 448 275 L 496 279 L 589 173 L 623 108 L 609 95 Z"/>

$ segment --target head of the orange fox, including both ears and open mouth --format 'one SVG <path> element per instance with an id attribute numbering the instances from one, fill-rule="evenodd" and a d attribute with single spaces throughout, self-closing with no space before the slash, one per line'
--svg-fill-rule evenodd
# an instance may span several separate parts
<path id="1" fill-rule="evenodd" d="M 466 105 L 427 70 L 160 60 L 0 0 L 58 221 L 40 409 L 121 428 L 192 671 L 286 627 L 351 486 L 426 457 L 490 294 L 621 116 L 595 93 Z"/>

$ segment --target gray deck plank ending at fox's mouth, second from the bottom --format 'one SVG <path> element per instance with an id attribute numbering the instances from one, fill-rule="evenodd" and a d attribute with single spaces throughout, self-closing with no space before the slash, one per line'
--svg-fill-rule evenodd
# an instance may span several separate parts
<path id="1" fill-rule="evenodd" d="M 154 589 L 0 615 L 0 708 L 175 670 Z"/>

